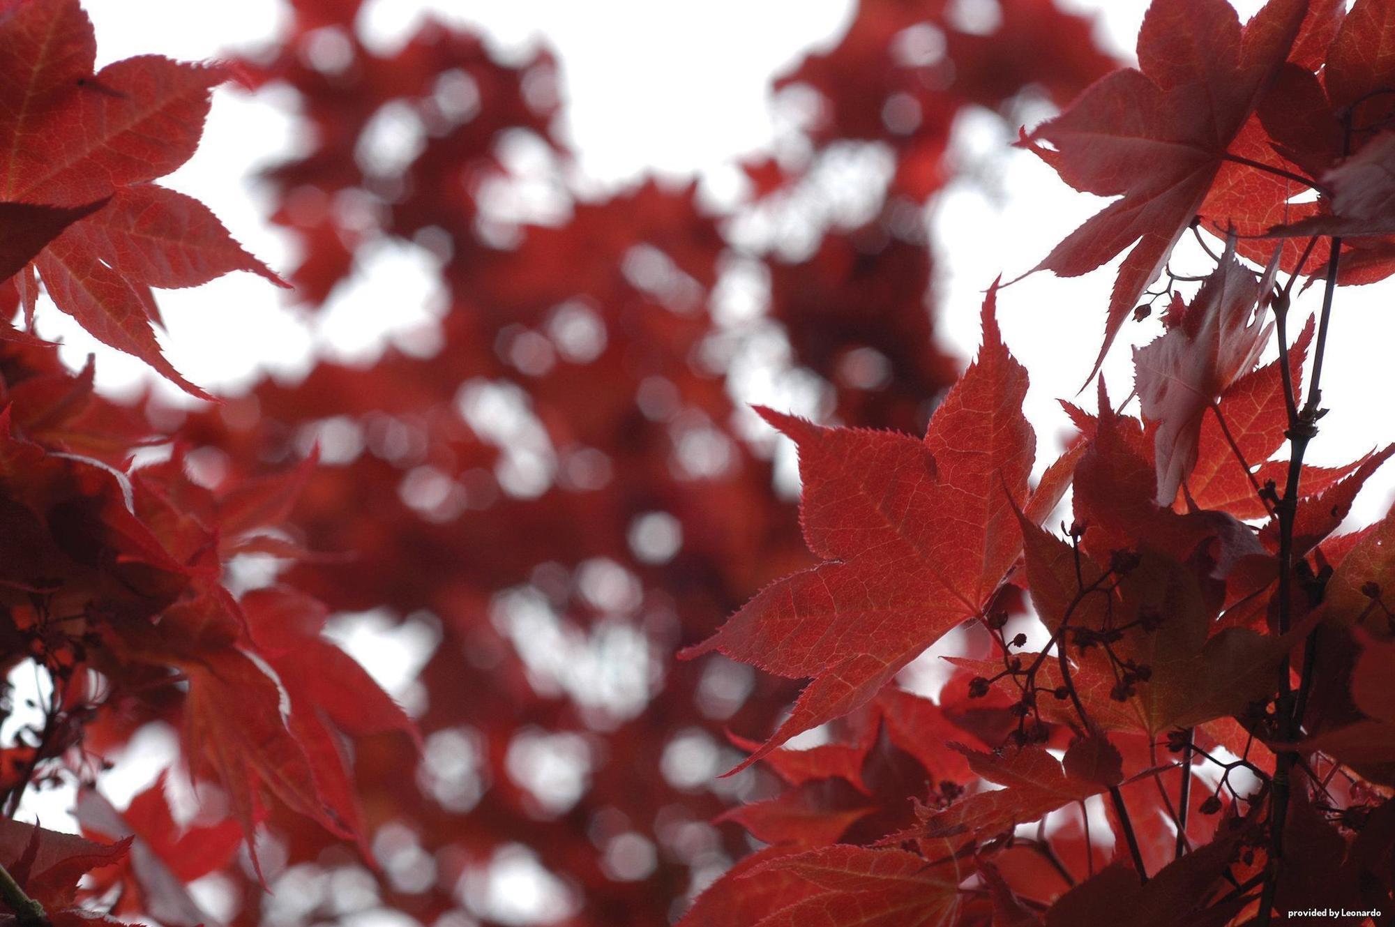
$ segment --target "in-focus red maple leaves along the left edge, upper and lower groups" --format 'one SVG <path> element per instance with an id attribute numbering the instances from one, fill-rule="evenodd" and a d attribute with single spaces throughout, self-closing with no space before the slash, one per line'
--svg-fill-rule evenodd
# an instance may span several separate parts
<path id="1" fill-rule="evenodd" d="M 95 54 L 77 0 L 0 8 L 8 317 L 22 309 L 32 321 L 42 283 L 96 338 L 202 395 L 159 352 L 151 288 L 234 269 L 276 281 L 202 204 L 149 183 L 194 152 L 222 73 L 149 56 L 93 74 Z M 99 910 L 205 923 L 186 884 L 225 868 L 273 806 L 367 847 L 349 746 L 396 732 L 412 751 L 414 725 L 322 635 L 322 605 L 289 586 L 240 593 L 226 572 L 239 557 L 286 553 L 282 529 L 314 455 L 194 480 L 187 445 L 95 395 L 91 364 L 64 369 L 53 345 L 8 320 L 0 339 L 3 665 L 32 663 L 46 680 L 42 720 L 0 746 L 0 803 L 13 817 L 27 789 L 77 785 L 78 821 L 117 840 L 6 820 L 6 903 L 21 891 L 50 921 L 81 923 L 92 914 L 82 899 L 124 884 Z M 156 445 L 169 450 L 160 462 L 134 465 Z M 92 792 L 106 757 L 153 722 L 181 732 L 180 775 L 206 786 L 219 808 L 209 821 L 177 822 L 163 780 L 124 815 Z M 100 878 L 80 892 L 93 868 Z"/>

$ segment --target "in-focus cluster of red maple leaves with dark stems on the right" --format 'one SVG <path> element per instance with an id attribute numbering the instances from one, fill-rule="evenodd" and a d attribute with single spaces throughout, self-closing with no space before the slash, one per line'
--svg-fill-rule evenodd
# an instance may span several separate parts
<path id="1" fill-rule="evenodd" d="M 1119 197 L 1039 265 L 1084 274 L 1133 249 L 1101 357 L 1168 275 L 1165 331 L 1134 352 L 1141 419 L 1101 380 L 1098 413 L 1067 406 L 1080 436 L 1030 489 L 1027 371 L 999 336 L 995 290 L 979 357 L 923 441 L 767 413 L 799 448 L 805 540 L 823 563 L 688 655 L 810 681 L 745 761 L 787 789 L 728 815 L 769 846 L 684 924 L 1182 927 L 1311 907 L 1355 924 L 1389 910 L 1395 511 L 1334 532 L 1395 445 L 1303 466 L 1322 416 L 1321 364 L 1304 402 L 1303 360 L 1321 360 L 1332 296 L 1395 271 L 1395 3 L 1346 6 L 1271 0 L 1242 25 L 1223 0 L 1155 0 L 1140 67 L 1023 135 L 1071 186 Z M 1187 302 L 1166 265 L 1190 228 L 1226 249 Z M 1289 342 L 1304 276 L 1325 276 L 1315 348 L 1311 321 Z M 1275 329 L 1279 359 L 1260 366 Z M 1067 484 L 1062 537 L 1041 524 Z M 957 674 L 907 737 L 883 708 L 894 678 L 965 621 L 981 655 L 951 658 Z M 817 726 L 824 746 L 781 747 Z M 898 789 L 908 825 L 858 778 L 886 746 L 928 754 Z"/>

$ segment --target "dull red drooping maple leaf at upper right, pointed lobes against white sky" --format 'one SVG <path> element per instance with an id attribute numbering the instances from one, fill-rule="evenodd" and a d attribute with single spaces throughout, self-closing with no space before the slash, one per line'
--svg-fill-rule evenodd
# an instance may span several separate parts
<path id="1" fill-rule="evenodd" d="M 1285 63 L 1307 6 L 1271 0 L 1242 28 L 1225 0 L 1155 1 L 1138 32 L 1141 70 L 1096 81 L 1024 137 L 1077 190 L 1122 195 L 1035 268 L 1078 276 L 1136 246 L 1115 282 L 1094 371 L 1201 208 L 1228 145 Z"/>

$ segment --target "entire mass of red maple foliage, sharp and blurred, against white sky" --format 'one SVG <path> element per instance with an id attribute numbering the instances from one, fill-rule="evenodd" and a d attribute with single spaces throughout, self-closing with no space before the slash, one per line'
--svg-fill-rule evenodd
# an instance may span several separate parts
<path id="1" fill-rule="evenodd" d="M 0 332 L 0 631 L 7 669 L 52 680 L 0 786 L 13 815 L 27 787 L 75 780 L 86 833 L 114 840 L 0 833 L 20 889 L 54 920 L 194 924 L 187 885 L 218 873 L 239 924 L 372 906 L 498 923 L 519 914 L 491 874 L 525 857 L 561 899 L 544 914 L 578 927 L 1388 907 L 1395 517 L 1334 532 L 1395 448 L 1335 469 L 1276 455 L 1318 415 L 1302 370 L 1325 338 L 1286 341 L 1295 282 L 1391 269 L 1395 3 L 1271 0 L 1242 27 L 1223 0 L 1158 0 L 1140 70 L 1108 75 L 1088 22 L 1049 0 L 1002 0 L 990 28 L 961 6 L 866 0 L 781 80 L 819 101 L 812 155 L 751 165 L 745 214 L 809 222 L 820 166 L 850 147 L 896 165 L 870 218 L 816 219 L 791 258 L 737 244 L 696 186 L 572 191 L 545 53 L 505 66 L 435 22 L 372 52 L 357 3 L 296 0 L 280 43 L 240 68 L 301 103 L 307 148 L 269 173 L 303 244 L 289 276 L 318 306 L 375 249 L 412 243 L 445 311 L 427 348 L 319 363 L 173 436 Z M 11 316 L 42 281 L 184 384 L 149 289 L 276 279 L 149 183 L 191 154 L 222 74 L 160 59 L 92 74 L 91 46 L 75 0 L 0 6 Z M 1083 274 L 1133 247 L 1106 348 L 1189 228 L 1228 239 L 1190 302 L 1168 272 L 1163 334 L 1136 353 L 1143 416 L 1101 384 L 1095 415 L 1067 406 L 1080 434 L 1035 484 L 996 288 L 956 380 L 907 218 L 951 176 L 956 117 L 1032 92 L 1081 95 L 1023 144 L 1122 197 L 1042 262 Z M 385 113 L 420 130 L 400 163 L 365 155 Z M 491 207 L 534 180 L 519 145 L 550 162 L 550 223 Z M 720 311 L 752 278 L 766 311 Z M 1283 350 L 1258 366 L 1269 311 Z M 739 346 L 781 335 L 820 416 L 896 429 L 763 412 L 799 448 L 804 544 L 731 398 Z M 162 462 L 131 464 L 156 445 Z M 1067 490 L 1063 537 L 1042 524 Z M 234 591 L 226 567 L 252 558 L 278 581 Z M 367 610 L 434 639 L 414 722 L 324 635 Z M 960 627 L 937 698 L 897 685 Z M 702 659 L 675 665 L 682 645 Z M 795 698 L 788 678 L 810 681 Z M 163 779 L 124 811 L 86 787 L 156 722 L 184 732 L 194 818 Z M 820 746 L 785 744 L 812 729 Z M 543 775 L 558 768 L 575 789 Z M 326 888 L 349 881 L 368 900 Z"/>

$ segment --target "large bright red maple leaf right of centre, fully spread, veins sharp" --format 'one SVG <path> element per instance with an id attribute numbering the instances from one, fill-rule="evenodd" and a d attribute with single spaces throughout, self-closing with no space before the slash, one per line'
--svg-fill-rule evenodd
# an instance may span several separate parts
<path id="1" fill-rule="evenodd" d="M 805 539 L 824 563 L 766 588 L 684 652 L 720 651 L 781 676 L 813 677 L 742 768 L 870 699 L 978 614 L 1017 560 L 1014 505 L 1027 496 L 1035 438 L 1021 410 L 1027 376 L 993 313 L 990 290 L 983 348 L 923 441 L 760 410 L 799 447 Z"/>

